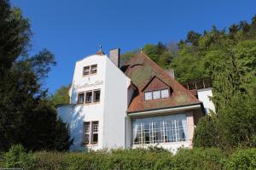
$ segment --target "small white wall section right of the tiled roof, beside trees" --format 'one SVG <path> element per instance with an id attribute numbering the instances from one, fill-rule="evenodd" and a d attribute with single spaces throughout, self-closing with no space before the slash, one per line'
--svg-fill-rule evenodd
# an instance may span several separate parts
<path id="1" fill-rule="evenodd" d="M 215 111 L 215 106 L 209 97 L 212 97 L 212 88 L 203 88 L 197 91 L 198 99 L 203 102 L 203 105 L 207 111 Z"/>

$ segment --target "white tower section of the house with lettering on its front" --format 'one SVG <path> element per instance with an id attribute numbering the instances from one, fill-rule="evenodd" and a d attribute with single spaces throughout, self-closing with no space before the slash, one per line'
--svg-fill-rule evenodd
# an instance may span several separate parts
<path id="1" fill-rule="evenodd" d="M 84 76 L 84 67 L 91 65 L 96 65 L 96 73 Z M 76 62 L 70 90 L 71 104 L 57 107 L 58 115 L 69 124 L 74 138 L 71 150 L 125 148 L 127 90 L 130 84 L 131 80 L 105 54 L 90 55 Z M 96 90 L 100 90 L 100 101 L 85 103 L 86 92 L 93 94 Z M 83 104 L 78 104 L 80 93 L 84 93 Z M 92 98 L 94 100 L 94 96 Z M 96 144 L 83 144 L 84 122 L 98 122 Z M 88 135 L 93 138 L 91 131 Z"/>

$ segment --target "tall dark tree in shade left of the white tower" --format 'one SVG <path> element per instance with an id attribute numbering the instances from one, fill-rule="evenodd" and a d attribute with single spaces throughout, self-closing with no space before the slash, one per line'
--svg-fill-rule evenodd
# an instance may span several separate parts
<path id="1" fill-rule="evenodd" d="M 1 0 L 0 8 L 0 150 L 9 150 L 11 144 L 28 150 L 67 150 L 72 142 L 67 125 L 57 119 L 42 88 L 55 65 L 54 54 L 43 49 L 28 56 L 28 19 L 9 1 Z"/>

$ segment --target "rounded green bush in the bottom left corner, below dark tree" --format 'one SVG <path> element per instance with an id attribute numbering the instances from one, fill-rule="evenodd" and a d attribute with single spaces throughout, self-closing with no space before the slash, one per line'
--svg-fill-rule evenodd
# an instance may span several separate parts
<path id="1" fill-rule="evenodd" d="M 13 145 L 8 152 L 3 154 L 1 167 L 34 169 L 36 157 L 32 153 L 26 153 L 21 144 Z"/>

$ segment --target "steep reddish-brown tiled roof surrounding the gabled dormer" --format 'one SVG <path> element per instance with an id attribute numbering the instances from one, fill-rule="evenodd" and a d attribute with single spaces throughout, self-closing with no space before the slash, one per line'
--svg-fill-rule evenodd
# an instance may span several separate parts
<path id="1" fill-rule="evenodd" d="M 174 80 L 166 71 L 154 63 L 146 54 L 141 52 L 132 57 L 125 63 L 125 75 L 131 78 L 132 83 L 137 87 L 137 93 L 131 99 L 127 112 L 150 111 L 155 109 L 164 109 L 183 105 L 201 104 L 193 94 L 190 94 L 186 88 Z M 166 99 L 144 99 L 144 88 L 149 82 L 157 77 L 172 89 L 172 94 Z"/>

